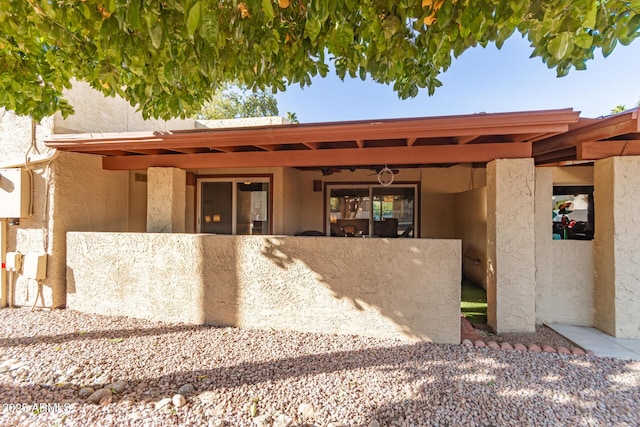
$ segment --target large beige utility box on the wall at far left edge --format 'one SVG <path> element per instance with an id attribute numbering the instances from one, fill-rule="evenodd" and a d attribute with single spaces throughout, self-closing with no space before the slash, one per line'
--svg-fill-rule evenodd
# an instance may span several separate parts
<path id="1" fill-rule="evenodd" d="M 0 218 L 29 216 L 31 181 L 25 169 L 0 169 Z"/>

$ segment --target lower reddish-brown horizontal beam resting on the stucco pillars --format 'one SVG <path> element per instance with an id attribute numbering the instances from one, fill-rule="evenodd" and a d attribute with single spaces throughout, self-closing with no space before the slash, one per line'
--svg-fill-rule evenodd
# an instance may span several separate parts
<path id="1" fill-rule="evenodd" d="M 413 147 L 342 148 L 235 153 L 164 154 L 151 156 L 104 157 L 107 170 L 177 167 L 183 169 L 217 167 L 322 167 L 366 166 L 372 164 L 486 163 L 496 158 L 531 157 L 531 144 L 493 143 Z"/>

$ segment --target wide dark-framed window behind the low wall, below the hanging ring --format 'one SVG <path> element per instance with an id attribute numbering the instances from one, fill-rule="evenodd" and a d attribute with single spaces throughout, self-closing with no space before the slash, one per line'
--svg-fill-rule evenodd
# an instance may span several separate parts
<path id="1" fill-rule="evenodd" d="M 413 237 L 417 185 L 329 185 L 330 236 Z"/>

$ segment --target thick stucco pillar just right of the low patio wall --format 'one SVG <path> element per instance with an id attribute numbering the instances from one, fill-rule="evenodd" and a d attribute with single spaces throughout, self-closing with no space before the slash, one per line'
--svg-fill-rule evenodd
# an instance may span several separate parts
<path id="1" fill-rule="evenodd" d="M 535 332 L 533 159 L 487 165 L 487 320 L 502 332 Z"/>

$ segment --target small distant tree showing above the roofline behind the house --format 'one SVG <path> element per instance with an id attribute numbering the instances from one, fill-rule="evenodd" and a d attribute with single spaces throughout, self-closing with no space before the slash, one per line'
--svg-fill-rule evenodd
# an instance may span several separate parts
<path id="1" fill-rule="evenodd" d="M 206 101 L 197 116 L 203 119 L 236 119 L 278 115 L 278 100 L 271 93 L 227 83 Z"/>

